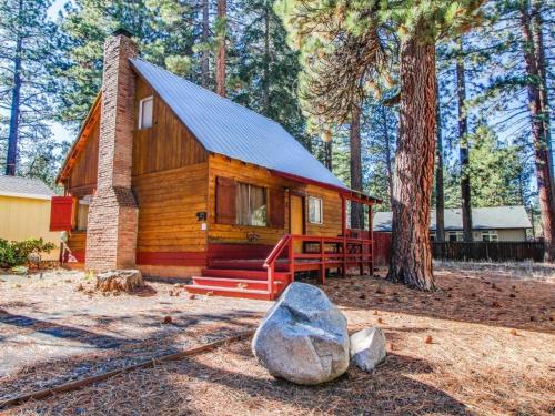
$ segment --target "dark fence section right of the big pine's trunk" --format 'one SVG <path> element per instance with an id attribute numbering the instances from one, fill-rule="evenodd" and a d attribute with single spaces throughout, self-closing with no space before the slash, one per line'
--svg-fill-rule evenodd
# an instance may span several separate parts
<path id="1" fill-rule="evenodd" d="M 487 260 L 492 262 L 525 261 L 542 262 L 544 243 L 532 242 L 445 242 L 432 243 L 433 257 L 437 260 Z"/>

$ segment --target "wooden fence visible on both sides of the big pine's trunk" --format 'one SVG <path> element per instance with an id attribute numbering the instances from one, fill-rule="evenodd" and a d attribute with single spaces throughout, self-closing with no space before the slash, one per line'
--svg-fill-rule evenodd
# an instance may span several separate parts
<path id="1" fill-rule="evenodd" d="M 391 233 L 374 232 L 374 265 L 386 266 L 391 255 Z M 544 243 L 532 242 L 444 242 L 432 243 L 432 255 L 446 261 L 522 262 L 544 260 Z"/>

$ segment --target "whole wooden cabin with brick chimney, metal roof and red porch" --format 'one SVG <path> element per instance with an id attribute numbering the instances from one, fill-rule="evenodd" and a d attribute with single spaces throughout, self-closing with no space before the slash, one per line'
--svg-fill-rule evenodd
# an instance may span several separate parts
<path id="1" fill-rule="evenodd" d="M 297 272 L 372 273 L 372 232 L 346 213 L 377 200 L 279 123 L 138 58 L 123 30 L 105 41 L 102 90 L 58 183 L 51 229 L 68 233 L 72 266 L 263 300 Z"/>

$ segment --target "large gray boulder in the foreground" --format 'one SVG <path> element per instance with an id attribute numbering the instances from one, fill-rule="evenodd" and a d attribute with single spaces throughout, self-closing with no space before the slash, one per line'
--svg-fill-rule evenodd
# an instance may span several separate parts
<path id="1" fill-rule="evenodd" d="M 275 377 L 329 382 L 349 367 L 346 319 L 320 288 L 293 283 L 260 324 L 252 351 Z"/>

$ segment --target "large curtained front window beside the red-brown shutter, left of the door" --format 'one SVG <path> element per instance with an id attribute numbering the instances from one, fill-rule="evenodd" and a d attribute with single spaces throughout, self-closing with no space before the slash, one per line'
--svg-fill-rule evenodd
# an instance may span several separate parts
<path id="1" fill-rule="evenodd" d="M 266 225 L 266 190 L 238 183 L 236 223 L 240 225 Z"/>

